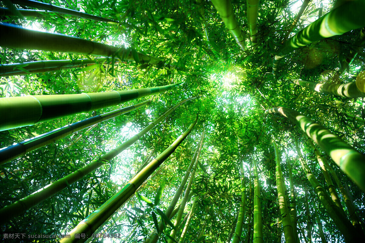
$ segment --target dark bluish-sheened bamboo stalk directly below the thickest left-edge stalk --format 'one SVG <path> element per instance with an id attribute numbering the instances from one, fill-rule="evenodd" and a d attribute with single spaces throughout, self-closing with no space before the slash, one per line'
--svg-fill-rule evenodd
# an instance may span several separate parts
<path id="1" fill-rule="evenodd" d="M 50 144 L 54 141 L 57 141 L 61 138 L 64 138 L 70 134 L 76 133 L 82 129 L 88 128 L 100 122 L 106 121 L 108 119 L 117 117 L 118 115 L 122 115 L 124 113 L 135 110 L 141 106 L 145 106 L 150 103 L 150 100 L 138 103 L 136 105 L 131 105 L 124 107 L 122 109 L 110 111 L 105 114 L 96 115 L 82 121 L 74 122 L 73 124 L 69 124 L 63 126 L 62 128 L 56 128 L 50 132 L 38 135 L 36 137 L 29 138 L 22 142 L 18 142 L 16 144 L 7 146 L 5 148 L 0 149 L 0 165 L 4 164 L 8 161 L 11 161 L 15 158 L 18 158 L 28 152 L 31 152 L 35 149 L 41 148 Z"/>

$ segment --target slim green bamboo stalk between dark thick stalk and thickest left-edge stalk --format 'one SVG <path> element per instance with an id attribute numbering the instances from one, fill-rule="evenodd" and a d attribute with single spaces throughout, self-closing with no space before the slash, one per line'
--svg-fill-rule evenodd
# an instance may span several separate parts
<path id="1" fill-rule="evenodd" d="M 77 59 L 77 60 L 45 60 L 45 61 L 34 61 L 24 63 L 9 63 L 0 64 L 0 77 L 15 76 L 15 75 L 27 75 L 38 72 L 50 72 L 67 68 L 74 67 L 85 67 L 87 65 L 96 64 L 98 61 L 104 62 L 105 58 L 91 59 Z M 116 61 L 118 62 L 118 61 Z M 109 62 L 110 63 L 110 62 Z M 21 68 L 21 69 L 20 69 Z M 24 71 L 26 70 L 26 71 Z"/>

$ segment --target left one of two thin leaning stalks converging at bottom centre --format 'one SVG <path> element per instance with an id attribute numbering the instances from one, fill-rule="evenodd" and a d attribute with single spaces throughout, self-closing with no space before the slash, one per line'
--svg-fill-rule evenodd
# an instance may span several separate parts
<path id="1" fill-rule="evenodd" d="M 194 163 L 194 167 L 193 167 L 194 175 L 195 175 L 195 171 L 196 171 L 197 164 L 199 162 L 201 148 L 203 148 L 203 141 L 204 141 L 204 131 L 201 134 L 200 142 L 199 142 L 199 145 L 198 145 L 199 146 L 199 149 L 197 150 L 196 157 L 195 157 L 195 160 L 194 160 L 194 162 L 195 162 Z M 165 215 L 167 217 L 169 217 L 169 215 L 171 213 L 171 210 L 175 207 L 177 201 L 179 200 L 179 198 L 181 196 L 181 193 L 183 193 L 183 189 L 185 187 L 185 184 L 186 184 L 186 182 L 188 180 L 189 175 L 190 174 L 191 174 L 191 176 L 193 175 L 193 173 L 190 173 L 190 172 L 191 172 L 191 168 L 189 168 L 188 171 L 185 173 L 184 179 L 181 181 L 180 187 L 177 189 L 177 191 L 176 191 L 176 193 L 174 195 L 174 198 L 170 202 L 169 207 L 165 210 Z M 190 181 L 191 180 L 189 180 L 189 182 Z M 162 219 L 161 220 L 161 223 L 158 225 L 159 232 L 157 232 L 156 230 L 154 230 L 153 231 L 153 234 L 151 234 L 149 237 L 147 237 L 147 239 L 145 240 L 145 243 L 147 243 L 147 242 L 149 242 L 149 243 L 157 243 L 158 238 L 160 237 L 161 232 L 164 231 L 164 226 L 165 226 L 165 220 Z"/>

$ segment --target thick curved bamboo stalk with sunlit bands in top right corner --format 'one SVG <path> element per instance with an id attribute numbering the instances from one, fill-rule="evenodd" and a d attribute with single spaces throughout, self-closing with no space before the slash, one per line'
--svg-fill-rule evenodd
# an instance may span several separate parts
<path id="1" fill-rule="evenodd" d="M 276 75 L 280 60 L 299 47 L 312 42 L 322 40 L 334 35 L 342 35 L 350 30 L 356 30 L 365 26 L 364 18 L 365 1 L 348 1 L 320 17 L 280 47 L 273 60 L 273 74 Z"/>

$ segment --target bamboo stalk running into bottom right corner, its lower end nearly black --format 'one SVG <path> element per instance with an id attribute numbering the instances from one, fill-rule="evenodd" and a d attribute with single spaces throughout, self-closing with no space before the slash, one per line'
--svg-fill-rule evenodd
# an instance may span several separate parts
<path id="1" fill-rule="evenodd" d="M 334 204 L 331 200 L 330 196 L 328 196 L 326 190 L 322 185 L 319 184 L 319 181 L 312 174 L 307 162 L 304 160 L 298 142 L 295 141 L 295 146 L 297 150 L 297 154 L 299 156 L 300 164 L 303 168 L 304 173 L 306 173 L 309 182 L 314 188 L 315 193 L 319 197 L 323 207 L 326 209 L 328 216 L 331 217 L 338 230 L 342 233 L 345 238 L 345 242 L 363 242 L 364 235 L 359 234 L 354 226 L 350 223 L 350 221 L 343 215 L 340 209 Z M 362 232 L 361 232 L 362 233 Z"/>

